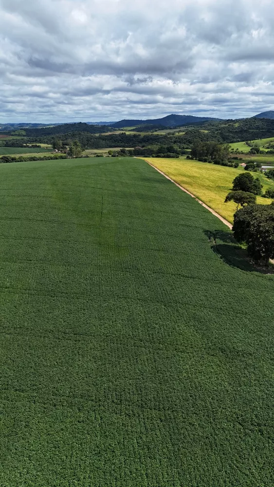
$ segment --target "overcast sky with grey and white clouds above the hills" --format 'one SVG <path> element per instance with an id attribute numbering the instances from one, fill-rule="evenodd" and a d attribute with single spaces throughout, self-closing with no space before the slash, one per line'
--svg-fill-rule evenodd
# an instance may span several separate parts
<path id="1" fill-rule="evenodd" d="M 0 0 L 0 123 L 274 109 L 273 0 Z"/>

